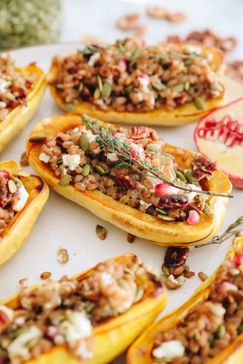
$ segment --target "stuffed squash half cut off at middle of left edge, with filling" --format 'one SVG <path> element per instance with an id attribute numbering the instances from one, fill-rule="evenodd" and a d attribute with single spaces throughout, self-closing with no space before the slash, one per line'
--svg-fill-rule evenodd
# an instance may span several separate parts
<path id="1" fill-rule="evenodd" d="M 0 265 L 30 233 L 49 194 L 46 182 L 14 161 L 0 162 Z"/>

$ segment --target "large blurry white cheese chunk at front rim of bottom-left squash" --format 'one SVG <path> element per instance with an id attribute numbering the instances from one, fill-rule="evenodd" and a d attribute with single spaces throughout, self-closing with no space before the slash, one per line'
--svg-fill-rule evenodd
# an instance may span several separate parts
<path id="1" fill-rule="evenodd" d="M 85 312 L 67 312 L 68 320 L 61 323 L 61 333 L 64 335 L 70 348 L 73 348 L 77 340 L 90 336 L 92 325 Z"/>

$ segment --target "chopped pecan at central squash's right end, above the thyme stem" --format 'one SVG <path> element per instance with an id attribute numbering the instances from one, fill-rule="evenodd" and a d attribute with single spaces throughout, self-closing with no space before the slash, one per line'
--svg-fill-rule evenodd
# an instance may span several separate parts
<path id="1" fill-rule="evenodd" d="M 213 172 L 217 169 L 217 162 L 213 162 L 210 158 L 205 157 L 205 155 L 199 155 L 191 162 L 191 166 L 194 177 L 202 179 L 213 176 Z"/>

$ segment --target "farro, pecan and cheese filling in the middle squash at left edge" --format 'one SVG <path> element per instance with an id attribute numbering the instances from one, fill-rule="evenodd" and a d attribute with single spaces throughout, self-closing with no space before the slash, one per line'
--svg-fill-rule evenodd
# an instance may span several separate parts
<path id="1" fill-rule="evenodd" d="M 0 170 L 0 236 L 15 213 L 23 209 L 28 196 L 18 178 L 10 176 L 5 170 Z"/>

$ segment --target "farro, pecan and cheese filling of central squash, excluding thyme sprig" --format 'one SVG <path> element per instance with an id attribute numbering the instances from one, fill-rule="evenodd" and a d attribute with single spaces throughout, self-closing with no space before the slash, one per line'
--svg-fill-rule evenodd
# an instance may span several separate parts
<path id="1" fill-rule="evenodd" d="M 110 132 L 129 143 L 133 158 L 156 168 L 161 177 L 175 181 L 177 186 L 200 190 L 200 181 L 210 179 L 216 170 L 216 163 L 200 154 L 195 155 L 191 169 L 177 165 L 175 157 L 161 150 L 164 142 L 154 129 L 111 127 L 110 131 L 107 130 L 108 134 Z M 80 191 L 98 189 L 125 205 L 163 220 L 187 220 L 194 224 L 200 214 L 212 214 L 206 203 L 208 195 L 161 183 L 160 179 L 146 171 L 138 173 L 132 167 L 119 167 L 119 155 L 107 153 L 95 138 L 93 130 L 87 130 L 84 125 L 66 133 L 56 132 L 43 143 L 39 159 L 50 165 L 56 177 L 60 178 L 60 186 L 72 183 Z M 187 152 L 179 148 L 176 154 L 187 159 Z"/>

